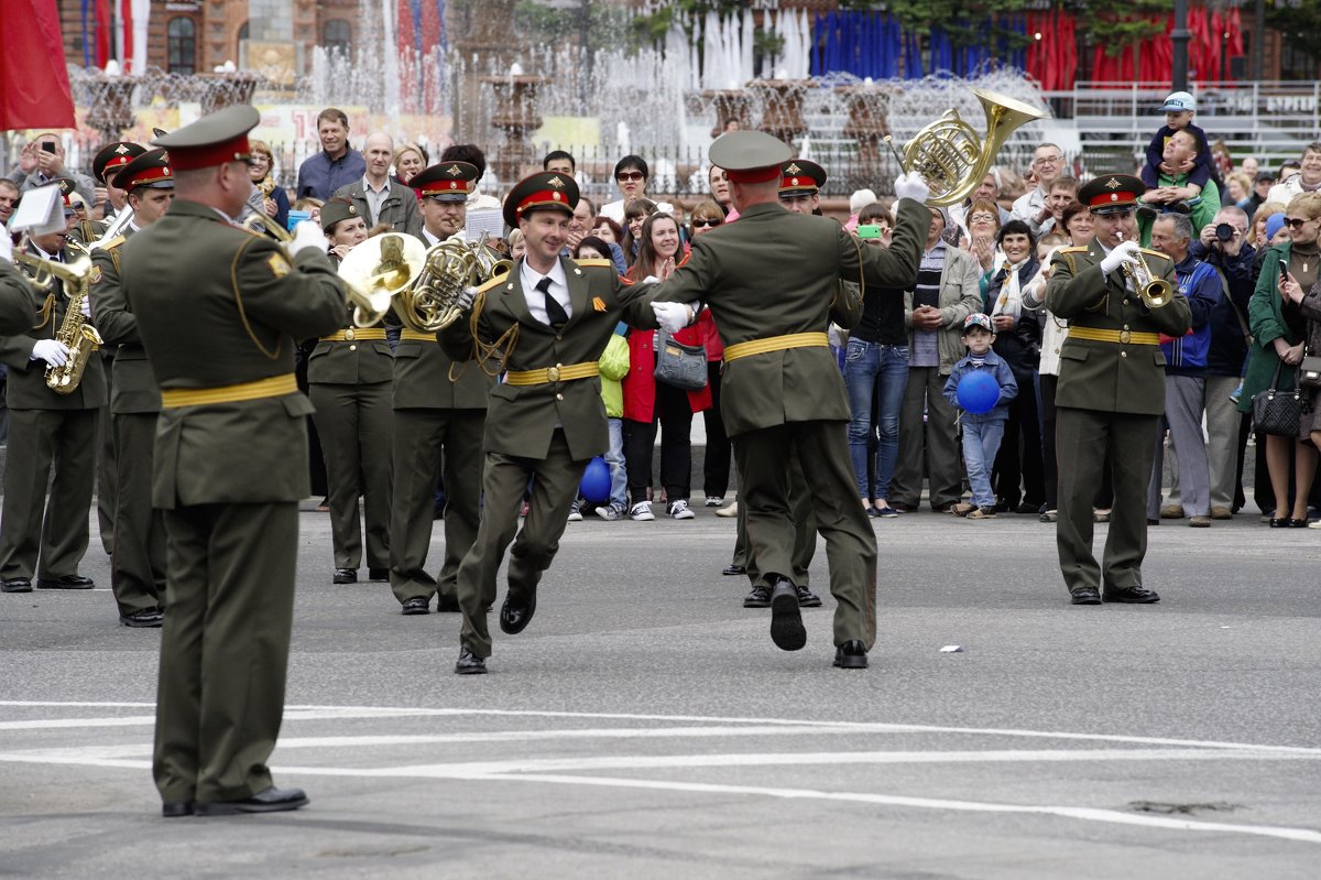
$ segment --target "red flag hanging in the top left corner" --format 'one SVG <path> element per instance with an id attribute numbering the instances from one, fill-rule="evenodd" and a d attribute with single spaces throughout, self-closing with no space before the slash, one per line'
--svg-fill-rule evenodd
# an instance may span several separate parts
<path id="1" fill-rule="evenodd" d="M 5 0 L 5 5 L 0 131 L 73 128 L 74 99 L 55 0 Z"/>

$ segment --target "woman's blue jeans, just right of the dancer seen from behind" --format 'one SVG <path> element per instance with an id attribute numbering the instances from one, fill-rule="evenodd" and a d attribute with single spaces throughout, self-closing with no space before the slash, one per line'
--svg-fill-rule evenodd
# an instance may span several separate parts
<path id="1" fill-rule="evenodd" d="M 908 385 L 906 345 L 881 345 L 849 340 L 844 350 L 844 385 L 848 388 L 848 455 L 853 461 L 860 498 L 888 498 L 900 448 L 900 410 Z M 880 437 L 871 452 L 875 423 Z M 875 474 L 868 486 L 869 474 Z M 871 490 L 868 490 L 871 489 Z"/>

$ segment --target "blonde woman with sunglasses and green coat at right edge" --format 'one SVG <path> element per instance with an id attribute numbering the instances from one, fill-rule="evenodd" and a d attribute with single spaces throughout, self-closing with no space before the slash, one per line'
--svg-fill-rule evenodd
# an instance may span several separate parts
<path id="1" fill-rule="evenodd" d="M 1254 344 L 1248 349 L 1247 375 L 1239 411 L 1252 411 L 1252 396 L 1272 385 L 1297 387 L 1297 366 L 1306 349 L 1309 318 L 1300 303 L 1321 277 L 1321 193 L 1295 196 L 1284 209 L 1289 240 L 1276 244 L 1262 262 L 1262 274 L 1247 307 Z M 1275 377 L 1279 373 L 1279 382 Z M 1314 420 L 1306 414 L 1304 422 Z M 1275 511 L 1272 529 L 1303 529 L 1308 525 L 1308 492 L 1317 468 L 1317 448 L 1300 443 L 1309 431 L 1292 436 L 1266 435 L 1266 468 L 1271 474 Z M 1293 465 L 1293 509 L 1289 507 L 1289 465 Z M 1285 515 L 1285 513 L 1288 514 Z M 1264 513 L 1264 511 L 1263 511 Z"/>

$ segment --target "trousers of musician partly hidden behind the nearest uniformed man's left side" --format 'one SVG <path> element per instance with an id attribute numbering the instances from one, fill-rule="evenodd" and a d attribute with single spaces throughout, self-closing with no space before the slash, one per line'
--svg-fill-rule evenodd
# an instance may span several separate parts
<path id="1" fill-rule="evenodd" d="M 152 507 L 157 418 L 155 412 L 111 416 L 115 444 L 124 451 L 115 457 L 119 492 L 115 552 L 110 559 L 110 587 L 122 616 L 159 608 L 165 601 L 165 517 Z"/>

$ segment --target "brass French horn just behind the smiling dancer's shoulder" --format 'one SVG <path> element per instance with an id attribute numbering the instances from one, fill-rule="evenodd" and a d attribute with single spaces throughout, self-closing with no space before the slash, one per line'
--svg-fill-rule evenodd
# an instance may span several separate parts
<path id="1" fill-rule="evenodd" d="M 458 296 L 465 288 L 507 272 L 511 266 L 486 247 L 486 233 L 472 244 L 452 235 L 427 250 L 421 274 L 399 291 L 395 312 L 408 329 L 437 333 L 458 320 Z"/>

